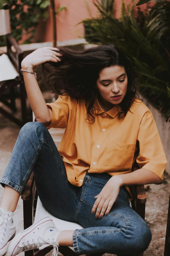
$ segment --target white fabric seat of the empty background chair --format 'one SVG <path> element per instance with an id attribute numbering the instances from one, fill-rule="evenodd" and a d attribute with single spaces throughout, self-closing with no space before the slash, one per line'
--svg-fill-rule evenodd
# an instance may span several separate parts
<path id="1" fill-rule="evenodd" d="M 19 76 L 7 54 L 2 54 L 0 56 L 0 82 L 15 79 Z"/>

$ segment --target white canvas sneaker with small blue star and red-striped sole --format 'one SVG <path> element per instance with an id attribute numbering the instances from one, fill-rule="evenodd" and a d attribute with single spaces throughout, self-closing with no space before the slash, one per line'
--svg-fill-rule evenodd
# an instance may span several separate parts
<path id="1" fill-rule="evenodd" d="M 28 229 L 19 232 L 10 242 L 7 253 L 10 256 L 15 256 L 23 251 L 44 249 L 45 247 L 54 247 L 53 254 L 58 255 L 59 243 L 57 237 L 62 232 L 55 228 L 55 225 L 50 217 L 40 219 Z M 56 251 L 57 249 L 57 251 Z"/>

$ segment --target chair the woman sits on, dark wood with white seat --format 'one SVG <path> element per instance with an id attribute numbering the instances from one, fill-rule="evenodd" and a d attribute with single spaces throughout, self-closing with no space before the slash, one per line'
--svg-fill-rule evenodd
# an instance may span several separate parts
<path id="1" fill-rule="evenodd" d="M 64 133 L 64 129 L 57 129 L 57 128 L 51 128 L 49 130 L 56 146 L 58 147 L 61 138 Z M 57 134 L 56 134 L 57 133 Z M 135 162 L 133 165 L 133 170 L 139 169 L 137 163 Z M 133 186 L 131 187 L 132 194 L 134 196 L 134 199 L 131 201 L 132 208 L 143 218 L 145 219 L 145 203 L 146 203 L 146 195 L 143 185 L 139 186 Z M 53 220 L 56 227 L 60 230 L 75 230 L 75 229 L 82 229 L 78 223 L 68 222 L 64 220 L 60 220 L 58 218 L 55 218 L 50 213 L 48 213 L 43 205 L 41 204 L 37 193 L 36 193 L 36 187 L 35 187 L 35 180 L 33 174 L 31 175 L 29 181 L 27 182 L 21 198 L 23 199 L 23 217 L 24 217 L 24 229 L 27 229 L 30 227 L 33 222 L 34 218 L 35 221 L 38 220 L 40 217 L 43 217 L 42 213 L 47 213 Z M 38 198 L 38 201 L 37 201 Z M 37 211 L 36 211 L 37 208 Z M 46 214 L 46 215 L 47 215 Z M 64 228 L 64 226 L 66 228 Z M 25 256 L 44 256 L 47 254 L 50 250 L 52 250 L 52 247 L 46 247 L 43 250 L 30 250 L 25 252 Z M 70 248 L 70 247 L 59 247 L 59 252 L 61 252 L 64 256 L 77 256 L 77 254 Z M 104 253 L 95 253 L 91 255 L 86 256 L 102 256 Z M 134 255 L 129 255 L 134 256 Z M 135 256 L 143 256 L 143 253 L 137 253 Z"/>

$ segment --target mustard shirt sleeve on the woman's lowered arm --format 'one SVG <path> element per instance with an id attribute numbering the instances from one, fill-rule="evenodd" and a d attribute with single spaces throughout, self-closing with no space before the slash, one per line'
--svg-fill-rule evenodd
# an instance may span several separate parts
<path id="1" fill-rule="evenodd" d="M 139 156 L 136 158 L 137 164 L 140 168 L 152 171 L 163 180 L 163 172 L 167 160 L 155 120 L 151 113 L 148 116 L 146 114 L 142 119 L 137 141 L 139 142 Z"/>

